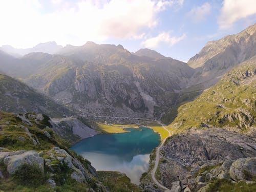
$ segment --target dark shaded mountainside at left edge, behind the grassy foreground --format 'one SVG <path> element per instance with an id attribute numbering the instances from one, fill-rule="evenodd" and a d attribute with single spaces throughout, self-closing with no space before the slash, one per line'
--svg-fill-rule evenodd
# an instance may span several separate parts
<path id="1" fill-rule="evenodd" d="M 73 112 L 25 83 L 0 74 L 0 110 L 14 113 L 43 113 L 52 117 L 72 115 Z"/>

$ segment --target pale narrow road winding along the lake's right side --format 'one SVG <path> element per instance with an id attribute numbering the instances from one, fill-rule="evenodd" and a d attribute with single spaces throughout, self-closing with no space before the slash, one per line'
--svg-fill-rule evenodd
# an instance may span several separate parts
<path id="1" fill-rule="evenodd" d="M 165 129 L 165 130 L 169 133 L 169 136 L 168 136 L 168 137 L 170 137 L 170 136 L 171 136 L 170 131 L 166 129 L 166 127 L 164 126 L 164 124 L 162 124 L 162 123 L 159 122 L 159 121 L 156 121 L 156 122 L 158 122 L 159 124 L 162 125 L 163 129 Z M 156 170 L 157 170 L 157 167 L 158 167 L 158 164 L 159 164 L 159 156 L 160 156 L 159 153 L 160 153 L 160 150 L 161 150 L 162 146 L 164 145 L 164 143 L 165 143 L 165 141 L 166 141 L 166 139 L 167 139 L 168 137 L 166 137 L 166 138 L 161 142 L 161 144 L 157 147 L 155 165 L 154 165 L 154 168 L 153 168 L 152 173 L 151 173 L 151 177 L 152 177 L 153 181 L 154 181 L 160 188 L 163 188 L 163 189 L 166 189 L 166 190 L 168 190 L 168 188 L 166 188 L 165 186 L 163 186 L 163 185 L 156 179 L 156 176 L 155 176 L 155 175 L 156 175 Z"/>

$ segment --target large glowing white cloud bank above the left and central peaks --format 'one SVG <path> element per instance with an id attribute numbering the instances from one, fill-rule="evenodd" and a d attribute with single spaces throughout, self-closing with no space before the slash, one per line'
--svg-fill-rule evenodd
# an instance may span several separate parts
<path id="1" fill-rule="evenodd" d="M 75 4 L 52 0 L 58 6 L 49 12 L 51 9 L 42 7 L 38 0 L 0 1 L 0 42 L 26 48 L 50 40 L 81 45 L 87 40 L 139 38 L 157 25 L 159 11 L 174 3 L 181 5 L 183 1 L 80 0 Z"/>

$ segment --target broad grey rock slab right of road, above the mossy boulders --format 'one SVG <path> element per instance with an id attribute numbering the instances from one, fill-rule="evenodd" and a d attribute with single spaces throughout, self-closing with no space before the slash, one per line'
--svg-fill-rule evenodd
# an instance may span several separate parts
<path id="1" fill-rule="evenodd" d="M 182 167 L 198 161 L 236 160 L 256 156 L 256 139 L 224 129 L 189 130 L 168 139 L 164 158 Z"/>

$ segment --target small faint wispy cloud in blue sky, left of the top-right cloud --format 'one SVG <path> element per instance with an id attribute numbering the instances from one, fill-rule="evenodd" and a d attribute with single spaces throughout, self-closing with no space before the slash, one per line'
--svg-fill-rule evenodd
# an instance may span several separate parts
<path id="1" fill-rule="evenodd" d="M 189 11 L 188 16 L 193 20 L 193 22 L 198 23 L 205 20 L 205 17 L 210 14 L 211 6 L 209 3 L 204 3 L 203 5 L 193 8 Z"/>

